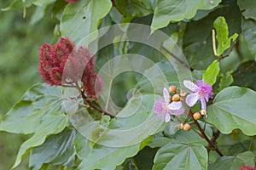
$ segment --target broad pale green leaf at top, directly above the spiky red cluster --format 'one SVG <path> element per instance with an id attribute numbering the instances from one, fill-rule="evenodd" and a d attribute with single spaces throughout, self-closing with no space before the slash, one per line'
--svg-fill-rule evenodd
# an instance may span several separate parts
<path id="1" fill-rule="evenodd" d="M 61 35 L 79 42 L 83 37 L 96 31 L 101 19 L 112 7 L 110 0 L 81 0 L 70 3 L 61 18 Z"/>

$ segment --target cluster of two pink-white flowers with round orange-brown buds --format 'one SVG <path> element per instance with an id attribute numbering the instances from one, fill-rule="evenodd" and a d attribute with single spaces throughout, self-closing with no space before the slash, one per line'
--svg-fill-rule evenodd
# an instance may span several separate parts
<path id="1" fill-rule="evenodd" d="M 201 116 L 207 115 L 207 102 L 212 98 L 212 86 L 207 82 L 198 80 L 195 83 L 188 80 L 184 80 L 183 84 L 191 91 L 191 94 L 186 95 L 182 89 L 177 94 L 176 86 L 170 86 L 169 92 L 166 88 L 163 89 L 163 98 L 157 99 L 154 104 L 154 112 L 161 119 L 165 119 L 166 122 L 170 122 L 171 115 L 179 116 L 184 113 L 183 105 L 181 101 L 184 101 L 189 107 L 195 105 L 197 101 L 201 101 L 201 111 L 195 112 L 192 116 L 194 120 L 201 119 Z M 172 95 L 170 95 L 170 94 Z M 183 130 L 189 130 L 190 125 L 180 125 Z"/>

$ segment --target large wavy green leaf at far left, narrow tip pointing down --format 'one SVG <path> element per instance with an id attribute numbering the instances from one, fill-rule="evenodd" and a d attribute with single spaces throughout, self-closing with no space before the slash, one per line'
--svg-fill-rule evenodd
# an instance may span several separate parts
<path id="1" fill-rule="evenodd" d="M 32 147 L 44 143 L 49 134 L 60 133 L 68 122 L 61 109 L 61 88 L 36 84 L 26 91 L 0 123 L 0 130 L 10 133 L 34 133 L 20 146 L 14 167 Z M 14 168 L 13 167 L 13 168 Z"/>

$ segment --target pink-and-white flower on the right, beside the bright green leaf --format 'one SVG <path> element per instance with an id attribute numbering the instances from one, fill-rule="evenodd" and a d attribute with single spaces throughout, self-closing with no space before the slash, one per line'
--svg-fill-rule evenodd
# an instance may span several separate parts
<path id="1" fill-rule="evenodd" d="M 192 94 L 186 97 L 186 104 L 192 107 L 197 101 L 201 101 L 201 109 L 207 110 L 207 102 L 212 97 L 212 86 L 207 82 L 198 80 L 195 83 L 188 80 L 184 80 L 183 84 L 188 88 Z"/>

